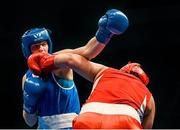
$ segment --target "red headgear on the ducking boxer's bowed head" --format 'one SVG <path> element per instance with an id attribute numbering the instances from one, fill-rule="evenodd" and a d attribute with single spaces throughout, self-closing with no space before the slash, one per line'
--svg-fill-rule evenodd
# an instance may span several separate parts
<path id="1" fill-rule="evenodd" d="M 140 66 L 141 65 L 138 63 L 128 63 L 127 65 L 123 66 L 120 70 L 129 74 L 136 75 L 138 78 L 141 79 L 141 81 L 145 85 L 147 85 L 149 83 L 149 78 Z"/>

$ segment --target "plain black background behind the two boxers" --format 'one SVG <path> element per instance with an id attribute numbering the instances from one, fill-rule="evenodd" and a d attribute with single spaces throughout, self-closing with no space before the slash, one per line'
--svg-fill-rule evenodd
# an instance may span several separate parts
<path id="1" fill-rule="evenodd" d="M 180 128 L 179 24 L 175 0 L 4 1 L 0 8 L 0 128 L 28 128 L 22 118 L 21 78 L 27 70 L 21 35 L 32 27 L 52 31 L 54 51 L 86 44 L 99 18 L 111 8 L 124 12 L 129 28 L 115 36 L 93 61 L 120 68 L 139 62 L 150 77 L 156 101 L 153 128 Z M 81 103 L 91 83 L 75 74 Z"/>

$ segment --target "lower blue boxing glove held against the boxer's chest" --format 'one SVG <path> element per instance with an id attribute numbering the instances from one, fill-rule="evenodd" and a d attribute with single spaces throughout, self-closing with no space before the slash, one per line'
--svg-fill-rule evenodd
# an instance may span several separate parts
<path id="1" fill-rule="evenodd" d="M 34 114 L 37 110 L 37 102 L 42 93 L 45 91 L 46 82 L 39 77 L 28 77 L 24 82 L 23 91 L 23 109 Z"/>

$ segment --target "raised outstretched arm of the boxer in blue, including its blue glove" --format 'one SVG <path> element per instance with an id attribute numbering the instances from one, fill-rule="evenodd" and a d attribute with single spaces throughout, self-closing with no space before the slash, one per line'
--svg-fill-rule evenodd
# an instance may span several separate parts
<path id="1" fill-rule="evenodd" d="M 117 9 L 108 10 L 98 22 L 95 37 L 90 39 L 85 46 L 76 49 L 65 49 L 54 54 L 74 53 L 89 60 L 95 58 L 110 41 L 113 35 L 122 34 L 129 25 L 128 18 Z"/>

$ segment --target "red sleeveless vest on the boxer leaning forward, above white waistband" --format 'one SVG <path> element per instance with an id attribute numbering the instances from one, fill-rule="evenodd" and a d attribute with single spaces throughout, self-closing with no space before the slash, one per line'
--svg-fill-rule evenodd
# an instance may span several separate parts
<path id="1" fill-rule="evenodd" d="M 152 95 L 139 78 L 113 68 L 104 70 L 94 84 L 86 103 L 128 104 L 144 111 Z"/>

